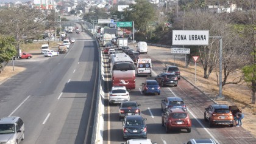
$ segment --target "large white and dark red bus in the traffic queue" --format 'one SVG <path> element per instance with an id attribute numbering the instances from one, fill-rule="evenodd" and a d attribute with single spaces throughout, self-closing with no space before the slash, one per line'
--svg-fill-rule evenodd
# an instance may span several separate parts
<path id="1" fill-rule="evenodd" d="M 126 53 L 115 53 L 110 59 L 110 74 L 113 86 L 126 86 L 135 89 L 135 67 Z"/>

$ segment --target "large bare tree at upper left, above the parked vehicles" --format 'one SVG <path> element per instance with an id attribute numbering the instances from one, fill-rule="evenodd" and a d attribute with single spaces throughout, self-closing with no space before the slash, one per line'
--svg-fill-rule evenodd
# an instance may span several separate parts
<path id="1" fill-rule="evenodd" d="M 41 10 L 20 5 L 0 11 L 0 33 L 13 36 L 16 49 L 19 48 L 21 36 L 36 35 L 43 28 L 43 24 L 44 15 Z"/>

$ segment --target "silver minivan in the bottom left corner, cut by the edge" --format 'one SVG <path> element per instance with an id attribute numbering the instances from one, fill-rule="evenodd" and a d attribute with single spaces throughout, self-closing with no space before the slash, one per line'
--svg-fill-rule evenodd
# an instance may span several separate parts
<path id="1" fill-rule="evenodd" d="M 18 144 L 24 140 L 25 126 L 20 117 L 0 119 L 0 143 Z"/>

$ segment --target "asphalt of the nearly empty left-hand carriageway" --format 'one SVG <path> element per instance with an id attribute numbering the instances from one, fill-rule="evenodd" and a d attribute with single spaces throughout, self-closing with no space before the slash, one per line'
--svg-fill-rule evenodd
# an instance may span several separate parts
<path id="1" fill-rule="evenodd" d="M 99 54 L 91 36 L 69 36 L 68 53 L 17 60 L 27 69 L 0 85 L 0 117 L 23 119 L 21 144 L 91 143 Z"/>

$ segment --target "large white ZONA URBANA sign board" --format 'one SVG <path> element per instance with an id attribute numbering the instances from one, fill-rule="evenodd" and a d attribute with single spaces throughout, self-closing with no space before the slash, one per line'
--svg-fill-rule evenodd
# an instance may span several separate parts
<path id="1" fill-rule="evenodd" d="M 172 30 L 172 45 L 208 45 L 209 30 Z"/>

